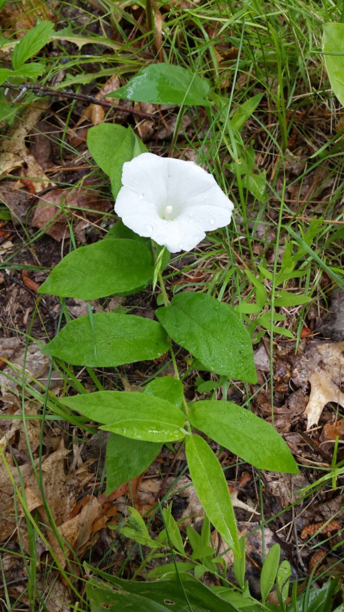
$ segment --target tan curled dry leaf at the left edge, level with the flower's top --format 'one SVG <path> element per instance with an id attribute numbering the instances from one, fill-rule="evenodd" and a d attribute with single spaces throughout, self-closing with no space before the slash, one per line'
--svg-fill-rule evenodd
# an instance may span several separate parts
<path id="1" fill-rule="evenodd" d="M 10 127 L 7 138 L 0 143 L 0 168 L 2 174 L 10 174 L 13 170 L 21 168 L 21 175 L 29 179 L 38 179 L 32 182 L 34 193 L 38 193 L 48 187 L 49 178 L 43 168 L 36 162 L 35 158 L 29 153 L 25 138 L 32 127 L 37 123 L 41 114 L 48 108 L 49 100 L 40 100 L 38 106 L 30 106 L 21 116 L 16 119 Z M 14 188 L 28 187 L 19 179 Z M 29 189 L 30 190 L 30 189 Z"/>

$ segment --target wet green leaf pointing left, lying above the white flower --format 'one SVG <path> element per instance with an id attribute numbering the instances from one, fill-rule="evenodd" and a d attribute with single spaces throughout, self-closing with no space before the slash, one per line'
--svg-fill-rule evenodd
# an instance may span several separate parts
<path id="1" fill-rule="evenodd" d="M 145 67 L 124 87 L 107 95 L 153 104 L 208 106 L 205 96 L 209 90 L 208 81 L 191 70 L 161 62 Z"/>

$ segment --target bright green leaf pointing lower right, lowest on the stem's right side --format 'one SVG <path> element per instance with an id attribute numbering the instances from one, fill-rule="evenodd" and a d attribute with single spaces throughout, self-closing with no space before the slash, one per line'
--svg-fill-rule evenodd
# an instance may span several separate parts
<path id="1" fill-rule="evenodd" d="M 189 420 L 238 457 L 260 469 L 298 474 L 293 455 L 272 425 L 231 401 L 204 400 L 189 404 Z"/>

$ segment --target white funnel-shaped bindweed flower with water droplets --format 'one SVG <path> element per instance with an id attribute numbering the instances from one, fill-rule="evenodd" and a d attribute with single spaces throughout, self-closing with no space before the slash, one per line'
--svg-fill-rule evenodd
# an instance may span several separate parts
<path id="1" fill-rule="evenodd" d="M 230 222 L 233 204 L 194 162 L 142 153 L 123 165 L 115 212 L 139 234 L 172 253 L 189 251 Z"/>

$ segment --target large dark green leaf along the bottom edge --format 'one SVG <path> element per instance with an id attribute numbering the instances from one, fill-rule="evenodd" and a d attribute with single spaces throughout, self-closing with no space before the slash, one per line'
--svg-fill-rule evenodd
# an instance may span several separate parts
<path id="1" fill-rule="evenodd" d="M 195 612 L 238 612 L 238 608 L 229 602 L 226 602 L 222 597 L 219 597 L 211 591 L 205 584 L 196 580 L 191 574 L 181 573 L 179 576 L 174 572 L 163 580 L 145 582 L 142 589 L 142 582 L 134 580 L 123 580 L 116 578 L 101 570 L 94 569 L 86 564 L 91 572 L 96 573 L 99 577 L 106 580 L 106 583 L 101 584 L 92 581 L 87 581 L 86 591 L 87 596 L 92 603 L 99 605 L 110 605 L 111 603 L 119 603 L 119 610 L 126 610 L 123 600 L 118 600 L 117 593 L 128 593 L 136 595 L 140 599 L 130 600 L 133 605 L 133 610 L 137 612 L 186 612 L 188 605 L 186 603 L 185 594 L 188 597 L 192 610 Z M 182 584 L 180 583 L 182 581 Z M 115 587 L 120 591 L 111 589 Z M 142 600 L 146 600 L 151 608 L 142 607 Z M 168 602 L 168 603 L 166 603 Z M 172 603 L 170 603 L 172 602 Z M 161 608 L 155 608 L 158 604 Z M 92 610 L 95 608 L 92 606 Z M 103 608 L 98 608 L 103 612 Z"/>

